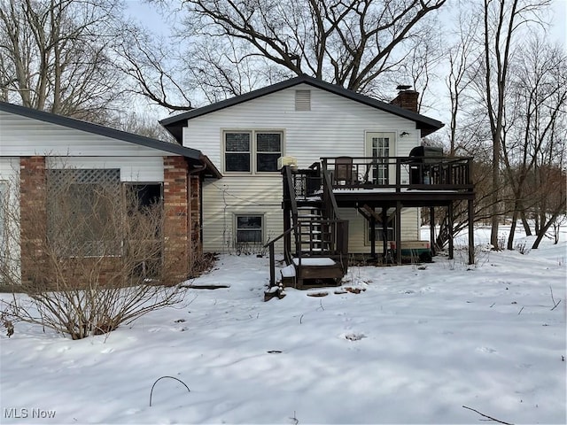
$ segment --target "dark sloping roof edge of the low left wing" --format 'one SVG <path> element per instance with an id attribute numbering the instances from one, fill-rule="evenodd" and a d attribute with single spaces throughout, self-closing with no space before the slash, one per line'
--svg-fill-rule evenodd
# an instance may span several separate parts
<path id="1" fill-rule="evenodd" d="M 152 139 L 151 137 L 146 137 L 144 135 L 135 135 L 126 131 L 117 130 L 115 128 L 101 126 L 99 124 L 88 121 L 76 120 L 74 118 L 64 117 L 56 113 L 40 111 L 37 109 L 28 108 L 26 106 L 20 106 L 18 104 L 9 104 L 0 101 L 0 111 L 21 115 L 33 120 L 49 122 L 50 124 L 55 124 L 66 128 L 74 128 L 76 130 L 85 131 L 94 135 L 102 135 L 127 143 L 134 143 L 146 148 L 155 149 L 157 151 L 165 151 L 174 155 L 180 155 L 184 158 L 187 158 L 190 163 L 194 165 L 206 165 L 207 174 L 211 174 L 215 177 L 221 176 L 216 168 L 210 168 L 211 166 L 213 166 L 213 164 L 208 158 L 206 158 L 205 155 L 203 155 L 201 151 L 186 148 L 184 146 L 180 146 L 177 143 L 168 143 L 158 139 Z"/>

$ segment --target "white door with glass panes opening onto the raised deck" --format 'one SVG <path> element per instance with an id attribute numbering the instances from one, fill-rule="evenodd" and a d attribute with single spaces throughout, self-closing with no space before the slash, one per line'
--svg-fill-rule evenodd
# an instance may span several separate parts
<path id="1" fill-rule="evenodd" d="M 366 156 L 372 158 L 366 172 L 368 182 L 377 185 L 396 184 L 395 162 L 386 163 L 380 160 L 395 155 L 395 137 L 395 133 L 366 134 Z"/>

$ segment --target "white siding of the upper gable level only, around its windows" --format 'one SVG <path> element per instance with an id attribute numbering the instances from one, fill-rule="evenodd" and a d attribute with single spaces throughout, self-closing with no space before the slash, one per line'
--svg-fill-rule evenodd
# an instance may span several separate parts
<path id="1" fill-rule="evenodd" d="M 311 111 L 295 111 L 295 90 L 311 89 Z M 203 151 L 223 170 L 223 130 L 283 129 L 284 154 L 298 158 L 307 167 L 321 157 L 341 155 L 363 157 L 366 131 L 392 131 L 409 135 L 397 138 L 392 156 L 405 156 L 417 146 L 420 132 L 415 122 L 378 111 L 345 97 L 338 97 L 307 85 L 237 104 L 189 120 L 183 131 L 183 145 Z"/>

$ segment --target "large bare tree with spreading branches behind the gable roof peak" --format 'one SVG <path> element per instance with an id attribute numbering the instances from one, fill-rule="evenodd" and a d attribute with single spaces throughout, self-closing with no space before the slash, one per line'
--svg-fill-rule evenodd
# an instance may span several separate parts
<path id="1" fill-rule="evenodd" d="M 408 75 L 402 65 L 416 47 L 423 58 L 446 1 L 183 0 L 186 19 L 167 46 L 175 66 L 164 66 L 159 46 L 129 43 L 122 56 L 140 91 L 170 110 L 190 108 L 190 89 L 217 101 L 302 73 L 381 97 L 377 76 Z M 409 73 L 426 85 L 429 69 L 419 68 Z"/>

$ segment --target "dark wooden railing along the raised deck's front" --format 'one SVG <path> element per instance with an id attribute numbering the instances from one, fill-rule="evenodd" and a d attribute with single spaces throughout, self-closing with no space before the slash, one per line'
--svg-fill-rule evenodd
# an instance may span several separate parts
<path id="1" fill-rule="evenodd" d="M 473 190 L 472 158 L 321 158 L 333 189 Z"/>

